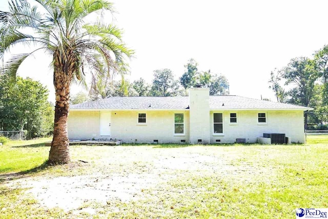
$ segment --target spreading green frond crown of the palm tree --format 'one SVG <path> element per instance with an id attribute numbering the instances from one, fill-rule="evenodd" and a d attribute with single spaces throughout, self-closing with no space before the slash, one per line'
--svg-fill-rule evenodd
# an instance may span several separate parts
<path id="1" fill-rule="evenodd" d="M 114 74 L 121 74 L 124 83 L 133 50 L 122 42 L 123 31 L 101 19 L 85 23 L 92 13 L 113 13 L 112 3 L 106 0 L 10 1 L 9 12 L 0 11 L 0 58 L 15 45 L 34 44 L 54 57 L 52 66 L 60 62 L 73 68 L 68 78 L 73 78 L 75 83 L 86 85 L 84 67 L 92 69 L 92 78 L 97 81 L 94 87 L 98 91 L 106 88 Z M 6 72 L 14 78 L 20 64 L 35 51 L 12 56 L 6 64 Z"/>

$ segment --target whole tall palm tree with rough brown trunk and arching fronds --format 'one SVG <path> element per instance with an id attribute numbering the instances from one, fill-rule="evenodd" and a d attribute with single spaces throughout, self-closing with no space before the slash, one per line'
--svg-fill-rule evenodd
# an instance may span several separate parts
<path id="1" fill-rule="evenodd" d="M 0 58 L 19 44 L 33 48 L 10 57 L 5 64 L 8 75 L 15 78 L 20 64 L 36 51 L 52 57 L 56 103 L 50 163 L 70 161 L 67 116 L 72 82 L 86 84 L 85 67 L 100 82 L 128 71 L 133 51 L 122 42 L 122 31 L 104 22 L 105 13 L 112 12 L 106 0 L 12 0 L 9 12 L 0 11 Z"/>

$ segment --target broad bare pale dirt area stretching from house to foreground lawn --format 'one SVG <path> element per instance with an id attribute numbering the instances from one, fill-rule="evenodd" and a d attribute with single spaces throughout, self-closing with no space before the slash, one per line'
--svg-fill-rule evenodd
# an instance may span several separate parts
<path id="1" fill-rule="evenodd" d="M 76 146 L 71 151 L 76 160 L 89 162 L 85 174 L 81 171 L 82 175 L 58 176 L 50 172 L 7 181 L 6 185 L 27 188 L 27 193 L 48 208 L 78 212 L 88 202 L 109 205 L 140 200 L 147 196 L 145 189 L 156 189 L 185 174 L 254 181 L 254 177 L 268 180 L 263 175 L 273 171 L 259 164 L 243 163 L 242 154 L 224 147 Z M 96 212 L 92 209 L 85 206 L 89 214 Z"/>

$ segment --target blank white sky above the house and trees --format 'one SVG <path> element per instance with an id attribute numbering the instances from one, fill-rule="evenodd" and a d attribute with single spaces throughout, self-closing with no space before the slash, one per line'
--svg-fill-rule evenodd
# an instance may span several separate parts
<path id="1" fill-rule="evenodd" d="M 199 70 L 225 75 L 230 94 L 275 100 L 270 72 L 291 58 L 311 56 L 328 43 L 328 1 L 115 0 L 116 25 L 135 50 L 130 81 L 169 68 L 176 78 L 194 58 Z M 7 10 L 0 0 L 0 10 Z M 37 53 L 18 70 L 50 89 L 50 57 Z M 72 93 L 80 88 L 73 87 Z"/>

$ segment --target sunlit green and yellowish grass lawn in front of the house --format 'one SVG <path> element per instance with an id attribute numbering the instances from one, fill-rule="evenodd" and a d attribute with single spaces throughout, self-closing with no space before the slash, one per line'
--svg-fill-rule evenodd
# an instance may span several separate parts
<path id="1" fill-rule="evenodd" d="M 0 218 L 295 218 L 296 208 L 328 208 L 327 135 L 309 135 L 306 145 L 71 146 L 72 164 L 55 167 L 43 165 L 47 141 L 0 147 Z M 88 200 L 64 211 L 11 185 L 57 176 L 90 177 L 81 182 L 88 189 L 99 182 L 107 204 Z M 128 201 L 111 196 L 125 189 L 133 190 Z"/>

